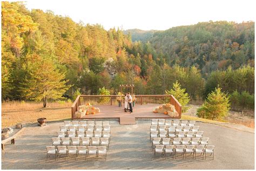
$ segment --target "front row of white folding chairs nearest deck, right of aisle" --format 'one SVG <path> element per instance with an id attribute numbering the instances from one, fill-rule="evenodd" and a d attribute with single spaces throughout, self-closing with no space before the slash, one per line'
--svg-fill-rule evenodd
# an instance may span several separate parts
<path id="1" fill-rule="evenodd" d="M 165 119 L 152 119 L 151 125 L 167 125 L 167 126 L 194 126 L 194 120 L 165 120 Z"/>

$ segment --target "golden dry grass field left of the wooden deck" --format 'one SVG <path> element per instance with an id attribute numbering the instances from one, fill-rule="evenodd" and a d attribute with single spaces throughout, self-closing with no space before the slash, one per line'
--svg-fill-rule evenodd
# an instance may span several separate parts
<path id="1" fill-rule="evenodd" d="M 18 123 L 29 124 L 37 122 L 38 118 L 48 121 L 71 119 L 71 103 L 59 104 L 50 102 L 47 108 L 36 102 L 4 102 L 2 104 L 2 128 L 15 126 Z"/>

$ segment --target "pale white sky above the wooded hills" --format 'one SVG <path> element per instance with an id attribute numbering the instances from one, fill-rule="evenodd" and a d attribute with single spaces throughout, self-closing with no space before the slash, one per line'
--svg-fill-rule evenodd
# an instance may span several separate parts
<path id="1" fill-rule="evenodd" d="M 75 22 L 100 24 L 109 30 L 166 30 L 210 20 L 241 23 L 255 21 L 255 0 L 37 0 L 26 1 L 26 8 L 51 10 Z"/>

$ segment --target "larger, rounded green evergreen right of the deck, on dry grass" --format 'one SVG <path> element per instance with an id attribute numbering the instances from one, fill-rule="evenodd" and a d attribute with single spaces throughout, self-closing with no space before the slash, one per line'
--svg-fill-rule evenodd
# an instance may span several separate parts
<path id="1" fill-rule="evenodd" d="M 200 118 L 221 120 L 230 110 L 230 99 L 225 92 L 221 92 L 221 88 L 215 88 L 208 94 L 204 104 L 198 108 L 197 116 Z"/>

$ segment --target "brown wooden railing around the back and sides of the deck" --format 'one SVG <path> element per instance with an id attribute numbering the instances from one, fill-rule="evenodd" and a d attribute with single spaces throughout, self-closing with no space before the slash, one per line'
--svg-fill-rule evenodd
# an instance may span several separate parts
<path id="1" fill-rule="evenodd" d="M 118 95 L 78 95 L 76 100 L 71 106 L 72 119 L 75 112 L 78 111 L 78 106 L 91 104 L 91 105 L 118 105 Z M 176 111 L 181 118 L 181 105 L 173 95 L 135 95 L 136 104 L 151 105 L 151 104 L 164 104 L 170 103 L 175 106 Z M 124 95 L 122 96 L 121 104 L 124 104 Z"/>

